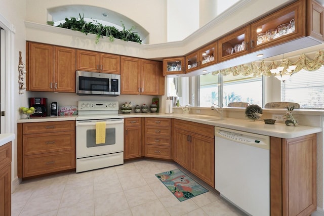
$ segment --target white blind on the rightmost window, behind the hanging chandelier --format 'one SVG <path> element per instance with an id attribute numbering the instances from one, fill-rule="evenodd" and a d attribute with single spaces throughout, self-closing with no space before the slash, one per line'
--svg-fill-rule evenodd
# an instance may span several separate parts
<path id="1" fill-rule="evenodd" d="M 300 109 L 324 109 L 324 67 L 301 70 L 281 82 L 281 101 L 299 103 Z"/>

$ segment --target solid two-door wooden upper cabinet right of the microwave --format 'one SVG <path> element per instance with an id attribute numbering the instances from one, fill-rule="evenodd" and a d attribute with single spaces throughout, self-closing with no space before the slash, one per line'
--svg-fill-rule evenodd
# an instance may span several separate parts
<path id="1" fill-rule="evenodd" d="M 163 95 L 161 63 L 133 57 L 120 58 L 120 94 Z"/>

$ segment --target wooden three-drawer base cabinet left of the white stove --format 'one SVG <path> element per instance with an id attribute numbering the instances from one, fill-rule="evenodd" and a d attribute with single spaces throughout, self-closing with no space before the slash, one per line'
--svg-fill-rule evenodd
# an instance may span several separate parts
<path id="1" fill-rule="evenodd" d="M 18 123 L 18 177 L 75 168 L 75 121 Z"/>

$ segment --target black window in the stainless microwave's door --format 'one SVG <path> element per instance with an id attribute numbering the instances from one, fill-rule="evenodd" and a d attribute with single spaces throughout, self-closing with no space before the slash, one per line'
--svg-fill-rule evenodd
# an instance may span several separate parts
<path id="1" fill-rule="evenodd" d="M 79 90 L 109 92 L 109 79 L 79 76 Z"/>

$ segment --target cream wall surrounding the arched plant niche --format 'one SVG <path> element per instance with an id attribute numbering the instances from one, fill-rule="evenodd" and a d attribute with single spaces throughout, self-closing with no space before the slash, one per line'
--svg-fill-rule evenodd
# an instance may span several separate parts
<path id="1" fill-rule="evenodd" d="M 46 24 L 48 19 L 47 9 L 64 5 L 91 5 L 107 8 L 123 14 L 145 28 L 149 32 L 150 44 L 159 44 L 167 41 L 167 9 L 165 0 L 28 0 L 28 4 L 26 5 L 26 11 L 28 12 L 26 14 L 26 20 Z"/>

